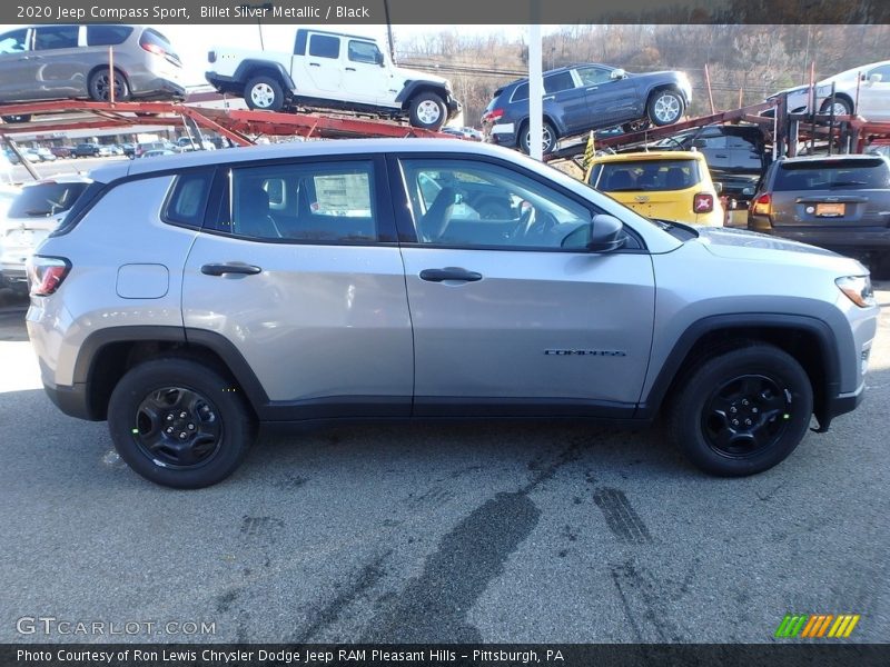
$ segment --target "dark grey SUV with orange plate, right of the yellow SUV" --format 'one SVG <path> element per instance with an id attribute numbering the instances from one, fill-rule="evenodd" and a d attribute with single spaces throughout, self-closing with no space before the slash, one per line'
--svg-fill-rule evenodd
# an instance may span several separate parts
<path id="1" fill-rule="evenodd" d="M 881 156 L 783 158 L 767 170 L 748 229 L 890 269 L 890 163 Z"/>

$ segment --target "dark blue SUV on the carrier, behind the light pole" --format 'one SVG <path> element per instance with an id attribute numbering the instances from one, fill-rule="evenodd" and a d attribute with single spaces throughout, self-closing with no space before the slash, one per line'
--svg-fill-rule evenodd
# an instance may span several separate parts
<path id="1" fill-rule="evenodd" d="M 544 152 L 562 137 L 650 121 L 668 126 L 683 117 L 692 97 L 684 72 L 631 74 L 605 64 L 578 64 L 544 73 Z M 495 90 L 482 116 L 487 138 L 528 152 L 528 79 Z"/>

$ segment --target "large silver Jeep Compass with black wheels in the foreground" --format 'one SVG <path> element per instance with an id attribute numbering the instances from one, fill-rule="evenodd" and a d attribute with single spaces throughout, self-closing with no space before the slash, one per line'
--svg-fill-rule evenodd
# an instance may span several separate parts
<path id="1" fill-rule="evenodd" d="M 724 476 L 862 398 L 857 261 L 640 217 L 515 152 L 343 140 L 115 163 L 29 266 L 50 398 L 172 487 L 260 422 L 666 415 Z"/>

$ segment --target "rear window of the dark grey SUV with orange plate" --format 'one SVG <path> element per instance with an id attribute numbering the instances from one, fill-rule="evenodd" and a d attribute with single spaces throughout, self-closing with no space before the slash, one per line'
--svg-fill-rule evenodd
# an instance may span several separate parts
<path id="1" fill-rule="evenodd" d="M 880 190 L 890 188 L 890 167 L 873 160 L 813 160 L 785 163 L 775 175 L 773 190 Z"/>

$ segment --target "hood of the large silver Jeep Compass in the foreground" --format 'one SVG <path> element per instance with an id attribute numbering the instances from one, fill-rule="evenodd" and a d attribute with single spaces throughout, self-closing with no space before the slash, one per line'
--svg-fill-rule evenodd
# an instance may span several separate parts
<path id="1" fill-rule="evenodd" d="M 861 263 L 849 257 L 765 233 L 719 227 L 696 227 L 695 231 L 699 232 L 699 243 L 712 255 L 725 259 L 820 266 L 850 275 L 868 272 Z"/>

